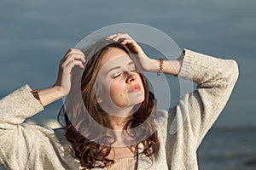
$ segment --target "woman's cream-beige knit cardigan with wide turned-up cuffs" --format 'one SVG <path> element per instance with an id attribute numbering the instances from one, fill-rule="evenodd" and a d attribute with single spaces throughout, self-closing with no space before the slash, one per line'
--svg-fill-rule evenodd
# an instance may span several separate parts
<path id="1" fill-rule="evenodd" d="M 170 111 L 158 111 L 160 150 L 154 163 L 139 155 L 137 169 L 198 169 L 196 150 L 226 105 L 238 77 L 236 61 L 185 49 L 178 77 L 198 84 Z M 0 100 L 0 163 L 7 169 L 79 169 L 65 133 L 24 123 L 44 108 L 26 85 Z M 102 169 L 102 168 L 95 168 Z"/>

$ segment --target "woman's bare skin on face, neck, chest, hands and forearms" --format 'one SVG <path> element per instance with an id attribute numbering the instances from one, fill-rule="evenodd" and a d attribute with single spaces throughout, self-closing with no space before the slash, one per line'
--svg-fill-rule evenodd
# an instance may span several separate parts
<path id="1" fill-rule="evenodd" d="M 144 71 L 159 71 L 159 61 L 157 59 L 150 59 L 143 52 L 143 49 L 137 44 L 137 42 L 135 42 L 128 34 L 114 34 L 108 38 L 113 39 L 114 41 L 119 41 L 122 39 L 123 44 L 131 45 L 131 47 L 134 48 L 134 50 L 137 52 L 137 57 Z M 125 122 L 125 116 L 131 115 L 133 105 L 142 102 L 144 99 L 144 88 L 142 81 L 137 73 L 133 72 L 132 69 L 129 68 L 131 65 L 127 65 L 130 61 L 130 58 L 127 58 L 127 56 L 125 57 L 125 55 L 126 54 L 124 54 L 124 51 L 121 49 L 113 48 L 108 50 L 102 59 L 102 71 L 104 72 L 104 68 L 109 66 L 114 67 L 114 64 L 117 65 L 117 63 L 121 63 L 119 66 L 122 68 L 122 75 L 116 80 L 110 81 L 110 83 L 109 81 L 104 80 L 101 76 L 99 77 L 99 81 L 102 81 L 102 84 L 105 83 L 105 86 L 102 86 L 102 88 L 105 88 L 105 91 L 108 93 L 103 93 L 107 94 L 105 96 L 99 95 L 97 97 L 98 102 L 100 105 L 102 105 L 102 107 L 107 108 L 107 112 L 109 113 L 109 120 L 111 120 L 110 123 L 113 129 L 117 130 L 123 129 L 125 123 L 122 122 Z M 122 62 L 117 62 L 119 60 L 119 56 L 122 56 Z M 85 59 L 86 57 L 79 49 L 70 48 L 67 51 L 67 54 L 65 54 L 63 59 L 61 59 L 58 77 L 54 85 L 50 88 L 42 89 L 38 93 L 43 106 L 49 105 L 50 103 L 61 99 L 63 96 L 69 93 L 71 88 L 72 69 L 74 66 L 78 66 L 79 68 L 84 69 L 83 64 Z M 104 66 L 106 63 L 107 66 Z M 181 61 L 164 60 L 163 65 L 163 73 L 177 75 L 181 68 Z M 133 83 L 137 83 L 140 86 L 141 92 L 135 95 L 130 95 L 127 90 L 131 88 L 131 84 Z M 140 98 L 137 98 L 138 96 L 140 96 Z M 108 103 L 107 99 L 112 102 Z M 133 103 L 131 101 L 133 101 Z M 114 116 L 113 113 L 115 113 Z M 119 137 L 120 135 L 117 133 L 116 136 Z M 122 144 L 121 138 L 117 138 L 116 143 L 124 145 Z M 111 151 L 109 158 L 111 159 L 113 156 L 115 158 L 134 156 L 135 154 L 136 150 L 134 150 L 134 148 L 115 147 Z"/>

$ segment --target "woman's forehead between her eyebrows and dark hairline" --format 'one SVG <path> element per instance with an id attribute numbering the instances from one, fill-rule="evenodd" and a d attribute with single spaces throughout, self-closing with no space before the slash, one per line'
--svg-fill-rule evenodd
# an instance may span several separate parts
<path id="1" fill-rule="evenodd" d="M 102 56 L 102 60 L 100 62 L 100 67 L 106 64 L 109 66 L 116 65 L 116 64 L 127 64 L 131 62 L 131 58 L 128 54 L 125 53 L 123 49 L 120 48 L 109 48 Z"/>

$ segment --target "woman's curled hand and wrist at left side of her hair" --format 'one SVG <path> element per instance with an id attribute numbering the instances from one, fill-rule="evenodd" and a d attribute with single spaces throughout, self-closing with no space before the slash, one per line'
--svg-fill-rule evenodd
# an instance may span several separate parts
<path id="1" fill-rule="evenodd" d="M 58 77 L 53 85 L 61 91 L 62 97 L 67 95 L 71 88 L 72 69 L 75 65 L 84 69 L 84 53 L 80 49 L 70 48 L 60 61 Z"/>

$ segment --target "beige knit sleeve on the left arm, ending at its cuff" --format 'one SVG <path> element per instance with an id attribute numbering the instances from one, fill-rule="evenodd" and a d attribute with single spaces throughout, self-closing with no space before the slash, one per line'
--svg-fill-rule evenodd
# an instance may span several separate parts
<path id="1" fill-rule="evenodd" d="M 43 110 L 44 107 L 33 97 L 31 88 L 25 85 L 0 100 L 0 129 L 14 128 Z"/>

